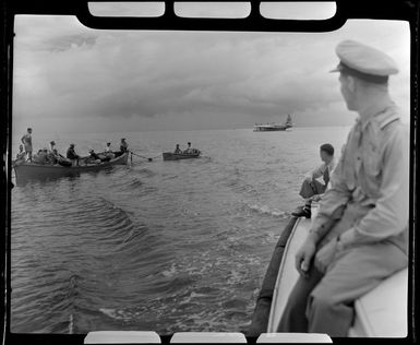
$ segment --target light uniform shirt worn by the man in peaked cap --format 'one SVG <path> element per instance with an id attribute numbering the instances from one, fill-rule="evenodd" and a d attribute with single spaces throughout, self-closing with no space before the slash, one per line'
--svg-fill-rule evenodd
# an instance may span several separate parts
<path id="1" fill-rule="evenodd" d="M 350 216 L 352 226 L 340 235 L 345 248 L 388 240 L 407 252 L 408 131 L 393 103 L 363 118 L 343 146 L 311 231 L 321 235 L 331 219 Z"/>

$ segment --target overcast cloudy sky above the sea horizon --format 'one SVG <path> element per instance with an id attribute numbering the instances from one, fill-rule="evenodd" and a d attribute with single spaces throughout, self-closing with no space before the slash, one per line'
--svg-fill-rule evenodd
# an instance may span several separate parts
<path id="1" fill-rule="evenodd" d="M 398 63 L 393 98 L 409 120 L 409 26 L 349 21 L 333 33 L 95 31 L 73 16 L 15 22 L 14 134 L 347 126 L 336 45 L 356 39 Z"/>

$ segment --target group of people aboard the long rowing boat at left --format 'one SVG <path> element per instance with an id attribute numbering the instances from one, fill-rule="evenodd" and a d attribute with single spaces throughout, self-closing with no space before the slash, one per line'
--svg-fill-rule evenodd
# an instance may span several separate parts
<path id="1" fill-rule="evenodd" d="M 59 164 L 62 166 L 77 166 L 82 162 L 84 164 L 100 164 L 103 162 L 108 162 L 115 157 L 118 157 L 129 151 L 129 144 L 127 143 L 125 138 L 122 138 L 119 151 L 113 151 L 111 143 L 108 142 L 104 152 L 95 153 L 95 151 L 91 148 L 88 151 L 88 155 L 82 157 L 75 152 L 74 143 L 71 143 L 64 157 L 58 153 L 58 150 L 56 148 L 56 142 L 50 141 L 49 148 L 44 147 L 38 150 L 36 154 L 33 154 L 32 128 L 27 129 L 26 133 L 22 136 L 21 142 L 22 144 L 19 146 L 15 164 L 25 162 L 40 165 Z"/>

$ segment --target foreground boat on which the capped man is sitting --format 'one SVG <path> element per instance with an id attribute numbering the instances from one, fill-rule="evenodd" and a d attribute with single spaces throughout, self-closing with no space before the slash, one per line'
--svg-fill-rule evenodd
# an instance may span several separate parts
<path id="1" fill-rule="evenodd" d="M 317 207 L 312 207 L 314 218 Z M 299 277 L 295 254 L 305 240 L 311 219 L 292 217 L 277 242 L 268 265 L 249 335 L 275 333 L 288 296 Z M 355 301 L 355 320 L 350 337 L 406 337 L 408 269 L 384 279 Z"/>

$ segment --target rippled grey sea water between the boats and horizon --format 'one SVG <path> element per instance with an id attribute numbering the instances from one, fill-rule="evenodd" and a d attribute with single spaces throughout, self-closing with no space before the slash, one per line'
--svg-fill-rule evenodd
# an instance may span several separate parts
<path id="1" fill-rule="evenodd" d="M 80 154 L 123 136 L 153 160 L 13 188 L 12 332 L 245 330 L 304 174 L 348 131 L 34 132 Z M 163 162 L 188 141 L 202 157 Z"/>

